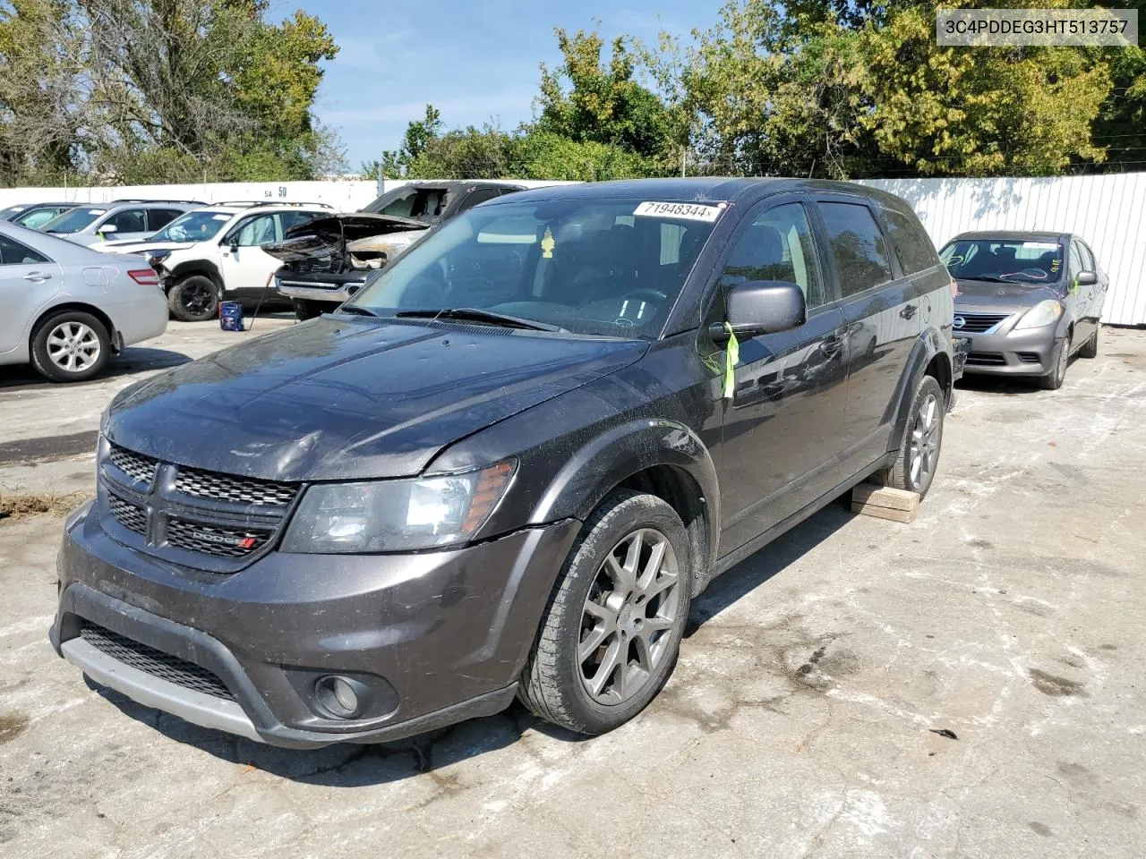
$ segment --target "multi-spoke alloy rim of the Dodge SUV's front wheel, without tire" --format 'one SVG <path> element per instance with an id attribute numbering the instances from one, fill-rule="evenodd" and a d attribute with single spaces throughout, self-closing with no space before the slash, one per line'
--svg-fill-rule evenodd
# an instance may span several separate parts
<path id="1" fill-rule="evenodd" d="M 581 683 L 601 704 L 620 704 L 647 685 L 672 653 L 683 593 L 668 537 L 642 528 L 623 537 L 597 569 L 581 613 Z"/>

